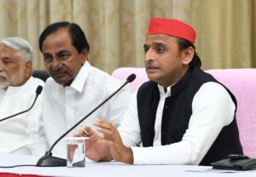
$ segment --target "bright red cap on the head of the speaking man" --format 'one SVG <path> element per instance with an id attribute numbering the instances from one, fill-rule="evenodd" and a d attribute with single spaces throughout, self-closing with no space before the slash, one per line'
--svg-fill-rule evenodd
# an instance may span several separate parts
<path id="1" fill-rule="evenodd" d="M 148 26 L 148 34 L 166 34 L 195 43 L 195 30 L 176 19 L 152 18 Z"/>

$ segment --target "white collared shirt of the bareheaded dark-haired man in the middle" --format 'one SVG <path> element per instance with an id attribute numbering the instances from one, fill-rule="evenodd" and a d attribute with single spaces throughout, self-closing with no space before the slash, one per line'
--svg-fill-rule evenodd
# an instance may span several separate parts
<path id="1" fill-rule="evenodd" d="M 108 73 L 90 66 L 88 61 L 81 67 L 73 83 L 68 87 L 62 87 L 61 84 L 55 83 L 52 77 L 49 77 L 43 92 L 44 130 L 49 145 L 51 146 L 61 134 L 78 123 L 122 84 Z M 122 88 L 118 94 L 86 118 L 68 136 L 77 134 L 83 125 L 89 125 L 96 131 L 93 123 L 97 118 L 105 118 L 119 125 L 130 100 L 131 90 Z M 53 155 L 66 157 L 66 151 L 66 142 L 61 140 L 53 149 Z"/>

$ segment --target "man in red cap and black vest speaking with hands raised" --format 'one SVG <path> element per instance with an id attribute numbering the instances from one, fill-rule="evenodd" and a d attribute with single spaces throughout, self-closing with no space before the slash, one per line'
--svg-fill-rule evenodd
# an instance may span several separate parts
<path id="1" fill-rule="evenodd" d="M 98 120 L 104 134 L 84 127 L 86 156 L 133 164 L 200 164 L 242 154 L 236 98 L 201 71 L 195 31 L 180 20 L 150 20 L 144 43 L 150 81 L 131 99 L 119 131 Z M 79 135 L 85 136 L 83 131 Z"/>

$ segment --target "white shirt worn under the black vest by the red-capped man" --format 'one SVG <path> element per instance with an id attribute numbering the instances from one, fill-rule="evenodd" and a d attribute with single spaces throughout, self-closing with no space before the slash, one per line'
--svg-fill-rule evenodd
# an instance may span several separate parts
<path id="1" fill-rule="evenodd" d="M 142 138 L 137 117 L 137 93 L 131 98 L 131 104 L 119 126 L 122 140 L 125 146 L 131 146 L 134 164 L 197 165 L 207 154 L 221 129 L 234 119 L 236 106 L 222 85 L 204 83 L 193 99 L 189 128 L 183 134 L 183 139 L 171 145 L 160 146 L 162 105 L 165 97 L 172 94 L 163 94 L 161 89 L 163 88 L 160 88 L 160 103 L 154 126 L 154 146 L 138 147 Z"/>

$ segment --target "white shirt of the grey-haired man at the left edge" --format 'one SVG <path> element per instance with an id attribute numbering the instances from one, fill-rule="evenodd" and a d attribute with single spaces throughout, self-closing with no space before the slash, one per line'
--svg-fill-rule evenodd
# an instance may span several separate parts
<path id="1" fill-rule="evenodd" d="M 38 78 L 30 77 L 25 84 L 19 87 L 0 89 L 0 119 L 9 117 L 32 106 L 38 85 L 44 82 Z M 0 123 L 0 152 L 43 155 L 46 140 L 42 123 L 39 117 L 42 109 L 42 96 L 30 111 L 12 117 Z"/>

